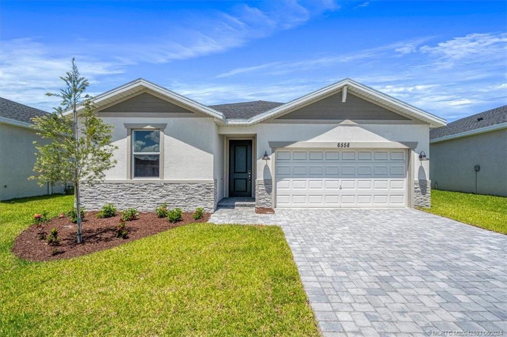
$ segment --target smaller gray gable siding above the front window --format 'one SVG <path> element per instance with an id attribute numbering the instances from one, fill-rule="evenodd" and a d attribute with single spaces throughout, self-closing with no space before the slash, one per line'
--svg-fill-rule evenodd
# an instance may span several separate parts
<path id="1" fill-rule="evenodd" d="M 100 112 L 165 112 L 165 113 L 193 113 L 176 104 L 167 102 L 154 95 L 141 93 L 126 99 Z"/>

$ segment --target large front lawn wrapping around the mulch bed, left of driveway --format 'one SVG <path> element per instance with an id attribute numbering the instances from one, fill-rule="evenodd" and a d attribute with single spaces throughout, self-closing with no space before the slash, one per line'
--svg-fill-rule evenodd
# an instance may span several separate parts
<path id="1" fill-rule="evenodd" d="M 0 203 L 0 335 L 319 335 L 279 227 L 192 224 L 70 260 L 12 255 L 35 212 L 71 204 Z"/>

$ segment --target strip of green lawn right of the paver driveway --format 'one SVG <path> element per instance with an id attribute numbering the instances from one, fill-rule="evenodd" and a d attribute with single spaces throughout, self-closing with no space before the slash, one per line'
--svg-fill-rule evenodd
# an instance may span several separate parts
<path id="1" fill-rule="evenodd" d="M 451 191 L 431 191 L 425 212 L 507 234 L 507 198 Z"/>

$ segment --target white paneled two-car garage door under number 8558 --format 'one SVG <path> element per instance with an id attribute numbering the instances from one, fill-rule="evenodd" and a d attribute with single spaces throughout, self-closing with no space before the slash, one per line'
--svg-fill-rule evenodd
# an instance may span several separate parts
<path id="1" fill-rule="evenodd" d="M 404 150 L 277 150 L 277 207 L 405 207 Z"/>

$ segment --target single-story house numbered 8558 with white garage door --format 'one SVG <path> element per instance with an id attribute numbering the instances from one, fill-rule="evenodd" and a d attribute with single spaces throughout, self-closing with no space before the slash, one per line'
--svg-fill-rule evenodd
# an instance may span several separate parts
<path id="1" fill-rule="evenodd" d="M 114 127 L 118 164 L 84 186 L 90 210 L 167 202 L 212 212 L 225 197 L 258 207 L 428 205 L 419 154 L 429 153 L 430 128 L 446 123 L 348 78 L 284 104 L 213 106 L 136 79 L 94 104 Z"/>

